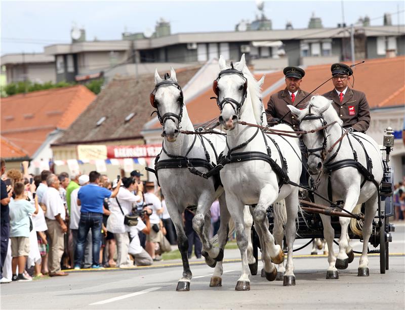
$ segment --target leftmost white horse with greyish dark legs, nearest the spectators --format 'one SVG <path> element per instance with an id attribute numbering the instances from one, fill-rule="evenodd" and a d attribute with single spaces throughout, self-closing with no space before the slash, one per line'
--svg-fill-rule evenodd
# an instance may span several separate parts
<path id="1" fill-rule="evenodd" d="M 156 86 L 150 101 L 163 125 L 163 152 L 155 166 L 157 177 L 175 225 L 178 248 L 183 261 L 183 277 L 179 280 L 176 290 L 188 291 L 192 278 L 187 257 L 188 240 L 182 219 L 182 213 L 189 206 L 196 207 L 193 229 L 203 244 L 206 262 L 210 267 L 215 266 L 210 286 L 221 286 L 223 249 L 228 237 L 230 218 L 224 191 L 222 187 L 215 189 L 214 178 L 201 178 L 191 173 L 187 167 L 208 172 L 212 168 L 211 162 L 216 163 L 216 149 L 224 149 L 225 139 L 222 136 L 210 135 L 208 141 L 205 137 L 180 132 L 181 129 L 194 131 L 194 127 L 183 103 L 183 93 L 177 83 L 176 72 L 173 68 L 170 72 L 170 75 L 166 74 L 162 79 L 157 70 L 155 71 Z M 219 247 L 213 246 L 212 240 L 208 237 L 211 225 L 210 207 L 217 198 L 221 212 Z"/>

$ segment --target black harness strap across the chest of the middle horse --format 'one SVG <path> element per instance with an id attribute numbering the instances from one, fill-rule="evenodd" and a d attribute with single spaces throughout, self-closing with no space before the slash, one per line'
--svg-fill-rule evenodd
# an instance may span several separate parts
<path id="1" fill-rule="evenodd" d="M 263 153 L 263 152 L 232 153 L 233 151 L 241 149 L 242 147 L 245 147 L 246 145 L 248 145 L 257 136 L 257 134 L 259 132 L 259 128 L 257 128 L 255 134 L 249 140 L 247 140 L 246 142 L 244 142 L 232 149 L 229 148 L 228 142 L 226 142 L 226 146 L 228 147 L 228 150 L 229 150 L 228 154 L 225 156 L 221 156 L 222 154 L 220 154 L 218 164 L 225 166 L 226 164 L 229 164 L 229 163 L 237 163 L 237 162 L 244 162 L 244 161 L 251 161 L 251 160 L 263 160 L 263 161 L 267 162 L 268 164 L 270 164 L 271 169 L 277 175 L 278 180 L 279 180 L 278 181 L 278 191 L 279 191 L 282 185 L 288 184 L 290 182 L 290 178 L 287 174 L 287 171 L 288 171 L 287 161 L 284 158 L 284 156 L 282 156 L 281 150 L 280 150 L 278 144 L 274 141 L 274 139 L 272 139 L 271 137 L 268 137 L 272 141 L 272 143 L 275 145 L 275 147 L 278 151 L 278 155 L 280 156 L 280 159 L 281 159 L 281 167 L 275 162 L 274 159 L 271 158 L 271 150 L 270 150 L 270 147 L 268 146 L 266 135 L 264 134 L 263 130 L 260 130 L 260 131 L 262 132 L 262 135 L 263 135 L 267 154 Z"/>

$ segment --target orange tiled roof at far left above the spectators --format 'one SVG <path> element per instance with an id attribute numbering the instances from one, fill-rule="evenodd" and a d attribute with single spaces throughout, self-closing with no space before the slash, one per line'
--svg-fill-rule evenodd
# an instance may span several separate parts
<path id="1" fill-rule="evenodd" d="M 95 98 L 83 85 L 2 98 L 2 136 L 32 156 L 50 132 L 67 128 Z"/>

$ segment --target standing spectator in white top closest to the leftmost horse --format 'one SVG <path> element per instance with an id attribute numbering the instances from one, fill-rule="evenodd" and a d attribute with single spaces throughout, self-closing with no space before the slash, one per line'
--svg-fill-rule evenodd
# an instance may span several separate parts
<path id="1" fill-rule="evenodd" d="M 154 194 L 155 185 L 153 182 L 146 182 L 146 193 L 143 195 L 145 205 L 149 205 L 152 210 L 152 214 L 149 216 L 151 230 L 149 235 L 146 235 L 146 251 L 152 257 L 154 261 L 159 261 L 155 255 L 156 242 L 160 241 L 159 230 L 160 230 L 160 217 L 159 215 L 163 213 L 163 208 L 161 207 L 161 202 L 159 198 Z"/>

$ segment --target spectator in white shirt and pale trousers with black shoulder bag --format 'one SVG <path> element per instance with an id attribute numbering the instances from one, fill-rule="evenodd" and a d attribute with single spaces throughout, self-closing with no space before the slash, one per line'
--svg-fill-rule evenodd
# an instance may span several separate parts
<path id="1" fill-rule="evenodd" d="M 130 227 L 125 225 L 125 217 L 132 212 L 134 204 L 142 200 L 143 184 L 136 184 L 132 178 L 123 178 L 122 182 L 117 196 L 110 198 L 111 214 L 107 219 L 107 231 L 114 234 L 117 244 L 117 267 L 124 269 L 134 267 L 128 256 Z M 117 179 L 113 181 L 112 188 L 116 186 Z M 137 195 L 132 191 L 136 191 Z"/>

